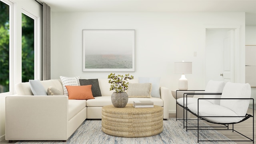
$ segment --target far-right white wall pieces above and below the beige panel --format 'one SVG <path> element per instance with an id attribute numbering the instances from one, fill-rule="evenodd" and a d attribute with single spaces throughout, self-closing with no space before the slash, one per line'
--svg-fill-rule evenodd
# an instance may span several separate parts
<path id="1" fill-rule="evenodd" d="M 245 45 L 256 45 L 256 26 L 245 26 Z M 256 103 L 256 88 L 252 88 L 252 98 Z"/>

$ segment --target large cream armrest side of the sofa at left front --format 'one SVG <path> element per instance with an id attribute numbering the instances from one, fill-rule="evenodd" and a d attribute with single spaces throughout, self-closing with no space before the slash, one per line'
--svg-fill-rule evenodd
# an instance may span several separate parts
<path id="1" fill-rule="evenodd" d="M 67 140 L 68 96 L 6 96 L 6 140 Z"/>

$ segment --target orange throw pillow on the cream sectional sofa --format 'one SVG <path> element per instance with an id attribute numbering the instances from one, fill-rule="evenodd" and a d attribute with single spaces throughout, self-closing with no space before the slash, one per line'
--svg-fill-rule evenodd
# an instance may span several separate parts
<path id="1" fill-rule="evenodd" d="M 66 86 L 69 100 L 94 99 L 92 96 L 92 85 L 87 86 Z"/>

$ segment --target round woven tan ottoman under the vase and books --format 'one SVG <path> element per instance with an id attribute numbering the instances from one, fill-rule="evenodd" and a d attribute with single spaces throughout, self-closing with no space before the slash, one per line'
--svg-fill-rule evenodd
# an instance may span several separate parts
<path id="1" fill-rule="evenodd" d="M 112 136 L 132 138 L 160 134 L 163 131 L 163 108 L 134 108 L 132 104 L 124 108 L 104 106 L 102 131 Z"/>

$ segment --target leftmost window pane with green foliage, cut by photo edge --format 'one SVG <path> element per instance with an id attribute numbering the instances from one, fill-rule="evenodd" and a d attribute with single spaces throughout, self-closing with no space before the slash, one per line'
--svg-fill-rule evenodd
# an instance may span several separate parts
<path id="1" fill-rule="evenodd" d="M 0 93 L 10 91 L 10 6 L 0 1 Z"/>

